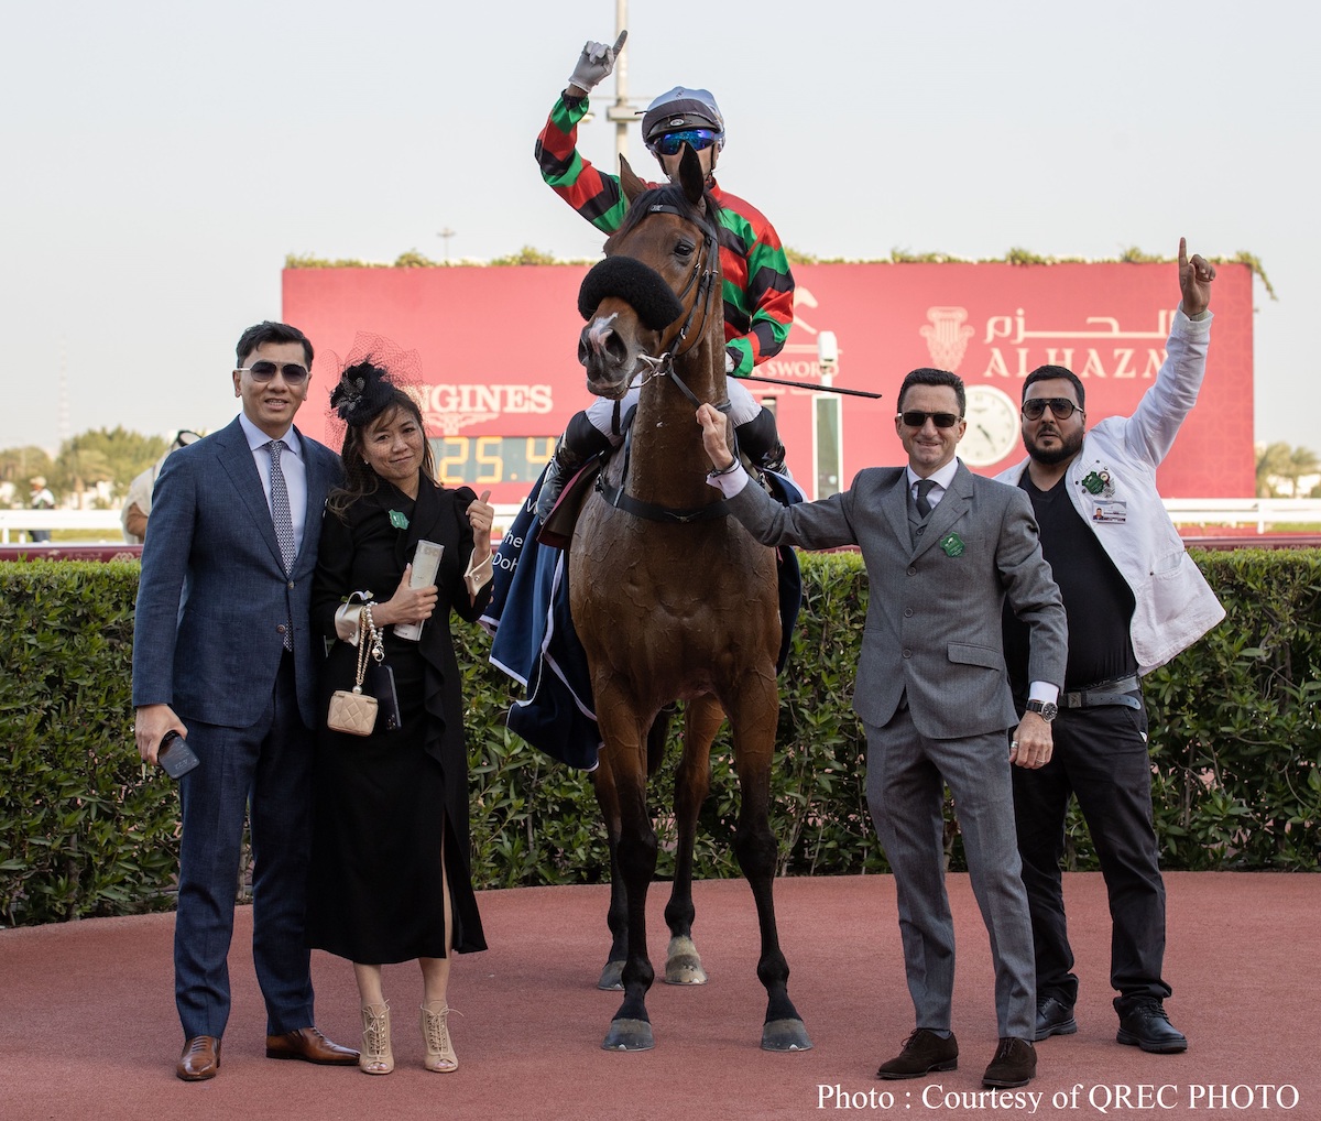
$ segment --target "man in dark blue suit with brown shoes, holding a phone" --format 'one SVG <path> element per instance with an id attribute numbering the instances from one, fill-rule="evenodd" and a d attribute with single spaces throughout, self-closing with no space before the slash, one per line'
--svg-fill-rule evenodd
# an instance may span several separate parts
<path id="1" fill-rule="evenodd" d="M 303 937 L 318 661 L 308 598 L 339 461 L 293 427 L 312 379 L 303 332 L 260 323 L 236 353 L 242 412 L 180 448 L 156 481 L 133 631 L 139 752 L 156 763 L 173 730 L 201 759 L 180 780 L 176 1073 L 185 1081 L 214 1077 L 221 1064 L 244 814 L 267 1058 L 358 1062 L 314 1027 Z"/>

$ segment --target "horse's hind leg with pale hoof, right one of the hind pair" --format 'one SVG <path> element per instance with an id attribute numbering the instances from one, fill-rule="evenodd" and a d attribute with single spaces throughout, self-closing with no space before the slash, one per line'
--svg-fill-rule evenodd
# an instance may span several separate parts
<path id="1" fill-rule="evenodd" d="M 705 985 L 707 972 L 692 943 L 692 850 L 697 839 L 697 814 L 711 789 L 711 742 L 725 714 L 713 697 L 688 702 L 683 728 L 683 759 L 674 780 L 674 816 L 678 825 L 674 886 L 664 908 L 670 927 L 664 980 L 668 985 Z"/>

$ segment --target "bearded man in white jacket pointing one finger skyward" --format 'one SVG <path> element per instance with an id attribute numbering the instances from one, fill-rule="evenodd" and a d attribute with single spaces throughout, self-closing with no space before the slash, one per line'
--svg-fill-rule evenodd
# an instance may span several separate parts
<path id="1" fill-rule="evenodd" d="M 1132 416 L 1087 431 L 1082 382 L 1062 366 L 1033 370 L 1022 386 L 1028 459 L 1000 475 L 1028 493 L 1069 615 L 1069 668 L 1053 723 L 1054 755 L 1013 768 L 1022 879 L 1032 912 L 1038 1040 L 1078 1030 L 1078 978 L 1061 888 L 1070 794 L 1091 830 L 1110 895 L 1111 985 L 1118 1040 L 1176 1052 L 1188 1040 L 1169 1022 L 1161 977 L 1165 886 L 1152 828 L 1147 710 L 1140 677 L 1190 646 L 1225 617 L 1184 549 L 1156 490 L 1206 373 L 1210 284 L 1215 270 L 1178 243 L 1182 301 L 1166 360 Z M 1005 654 L 1018 710 L 1026 699 L 1025 627 L 1005 613 Z"/>

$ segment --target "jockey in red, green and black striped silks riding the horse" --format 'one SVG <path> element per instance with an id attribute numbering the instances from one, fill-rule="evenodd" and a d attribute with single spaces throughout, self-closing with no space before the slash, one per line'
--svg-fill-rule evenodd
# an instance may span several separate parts
<path id="1" fill-rule="evenodd" d="M 627 32 L 613 46 L 588 42 L 569 83 L 551 110 L 536 139 L 542 177 L 565 202 L 598 230 L 613 234 L 624 221 L 627 200 L 617 176 L 597 171 L 577 151 L 577 126 L 588 111 L 588 94 L 614 69 Z M 724 274 L 725 373 L 746 377 L 753 366 L 779 353 L 794 321 L 794 278 L 779 235 L 754 206 L 723 190 L 715 180 L 716 160 L 725 144 L 725 122 L 707 90 L 675 86 L 662 94 L 642 118 L 642 137 L 671 181 L 678 174 L 683 145 L 696 151 L 705 185 L 720 212 L 720 266 Z M 764 408 L 737 381 L 728 383 L 731 419 L 749 460 L 770 471 L 785 471 L 785 448 L 774 414 Z M 620 416 L 637 403 L 637 389 L 621 402 L 597 398 L 576 414 L 556 445 L 555 459 L 536 504 L 544 521 L 564 484 L 589 459 L 618 445 Z"/>

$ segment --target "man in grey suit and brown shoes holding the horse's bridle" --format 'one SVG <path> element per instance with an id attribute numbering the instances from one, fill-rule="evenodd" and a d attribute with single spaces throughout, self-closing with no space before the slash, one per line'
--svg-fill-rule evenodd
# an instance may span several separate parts
<path id="1" fill-rule="evenodd" d="M 841 494 L 781 506 L 729 453 L 727 422 L 697 420 L 712 485 L 766 545 L 857 545 L 871 600 L 853 709 L 867 728 L 867 796 L 894 870 L 904 961 L 917 1026 L 882 1079 L 958 1065 L 950 1031 L 954 923 L 945 891 L 943 784 L 954 793 L 968 872 L 995 958 L 999 1046 L 988 1087 L 1025 1085 L 1037 1069 L 1032 925 L 1020 879 L 1011 764 L 1042 767 L 1063 681 L 1065 611 L 1020 493 L 972 475 L 956 457 L 963 382 L 913 370 L 894 428 L 908 467 L 868 468 Z M 1017 720 L 1000 611 L 1008 596 L 1030 627 L 1032 702 Z M 1012 746 L 1007 728 L 1017 723 Z"/>

